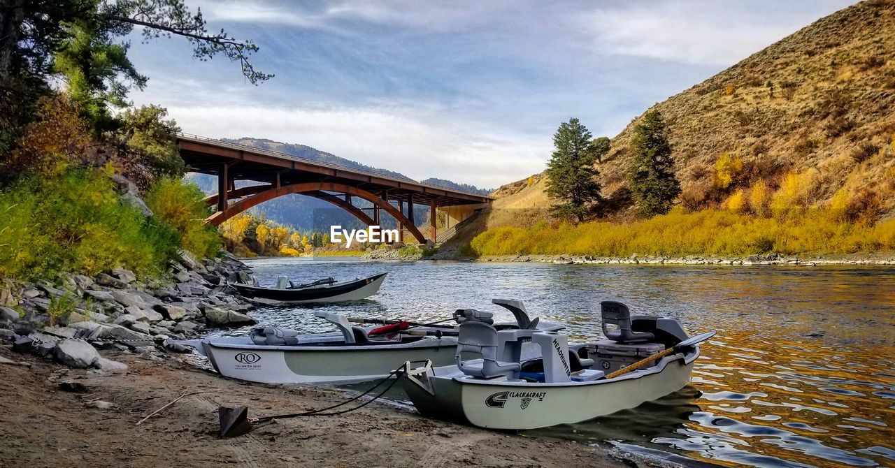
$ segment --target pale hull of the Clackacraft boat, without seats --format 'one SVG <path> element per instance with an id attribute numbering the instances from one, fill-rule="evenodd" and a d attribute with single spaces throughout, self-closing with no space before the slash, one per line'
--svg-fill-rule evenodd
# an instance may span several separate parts
<path id="1" fill-rule="evenodd" d="M 456 366 L 431 370 L 432 393 L 403 378 L 420 413 L 473 426 L 530 430 L 572 424 L 634 408 L 686 387 L 698 349 L 663 358 L 655 368 L 611 380 L 528 383 L 471 379 Z"/>

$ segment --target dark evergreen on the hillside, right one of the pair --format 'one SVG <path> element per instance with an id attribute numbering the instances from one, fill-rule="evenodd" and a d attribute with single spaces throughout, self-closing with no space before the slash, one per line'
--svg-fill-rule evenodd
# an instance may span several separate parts
<path id="1" fill-rule="evenodd" d="M 674 174 L 668 127 L 658 110 L 652 110 L 634 127 L 631 141 L 631 192 L 637 212 L 652 217 L 669 212 L 680 194 L 680 183 Z"/>

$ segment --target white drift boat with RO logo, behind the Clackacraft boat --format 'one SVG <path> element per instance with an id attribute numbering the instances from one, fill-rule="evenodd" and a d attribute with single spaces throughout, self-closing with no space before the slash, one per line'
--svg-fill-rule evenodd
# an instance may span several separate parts
<path id="1" fill-rule="evenodd" d="M 516 317 L 516 323 L 495 327 L 563 328 L 556 323 L 530 320 L 522 302 L 497 299 L 493 302 Z M 414 326 L 413 331 L 395 329 L 397 333 L 380 334 L 374 328 L 353 326 L 351 320 L 355 319 L 343 315 L 328 312 L 314 315 L 334 324 L 338 332 L 300 334 L 282 328 L 256 328 L 250 336 L 210 336 L 175 343 L 192 346 L 207 356 L 221 375 L 268 384 L 360 382 L 387 377 L 407 361 L 429 360 L 437 366 L 454 362 L 456 327 L 423 325 Z M 490 312 L 474 309 L 454 313 L 457 323 L 466 320 L 481 323 L 490 318 Z"/>

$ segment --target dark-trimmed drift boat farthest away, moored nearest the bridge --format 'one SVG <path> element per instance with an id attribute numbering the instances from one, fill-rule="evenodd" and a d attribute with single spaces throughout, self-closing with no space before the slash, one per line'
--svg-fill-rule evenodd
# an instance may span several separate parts
<path id="1" fill-rule="evenodd" d="M 280 277 L 277 287 L 262 287 L 243 283 L 231 284 L 239 294 L 253 302 L 268 305 L 292 305 L 314 302 L 348 302 L 366 299 L 379 291 L 387 273 L 357 278 L 339 283 L 325 278 L 306 285 L 292 285 L 286 277 Z"/>

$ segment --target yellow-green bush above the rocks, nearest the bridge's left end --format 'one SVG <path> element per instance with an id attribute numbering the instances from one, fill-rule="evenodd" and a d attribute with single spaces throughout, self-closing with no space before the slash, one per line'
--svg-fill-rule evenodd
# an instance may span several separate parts
<path id="1" fill-rule="evenodd" d="M 180 248 L 200 258 L 216 256 L 221 247 L 217 230 L 205 223 L 204 196 L 198 185 L 175 177 L 158 179 L 146 195 L 155 216 L 180 234 Z"/>

